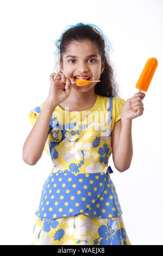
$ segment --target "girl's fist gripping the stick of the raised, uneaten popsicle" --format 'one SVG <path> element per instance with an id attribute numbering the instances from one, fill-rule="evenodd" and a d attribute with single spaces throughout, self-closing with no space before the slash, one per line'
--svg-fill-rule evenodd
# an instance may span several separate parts
<path id="1" fill-rule="evenodd" d="M 122 121 L 132 120 L 143 114 L 144 107 L 142 100 L 145 96 L 145 93 L 135 93 L 134 97 L 131 97 L 124 103 L 121 112 Z"/>

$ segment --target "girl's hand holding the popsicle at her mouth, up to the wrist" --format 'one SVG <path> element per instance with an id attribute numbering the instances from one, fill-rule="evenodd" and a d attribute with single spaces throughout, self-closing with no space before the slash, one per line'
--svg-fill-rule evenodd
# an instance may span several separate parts
<path id="1" fill-rule="evenodd" d="M 56 76 L 55 80 L 54 76 Z M 72 78 L 69 79 L 68 77 L 65 77 L 65 75 L 61 72 L 52 73 L 49 77 L 51 81 L 51 87 L 47 101 L 51 104 L 58 105 L 67 99 L 75 82 Z"/>

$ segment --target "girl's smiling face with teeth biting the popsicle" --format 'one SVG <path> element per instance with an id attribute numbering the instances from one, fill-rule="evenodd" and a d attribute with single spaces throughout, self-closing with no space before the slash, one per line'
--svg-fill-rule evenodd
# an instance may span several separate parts
<path id="1" fill-rule="evenodd" d="M 99 80 L 103 70 L 104 63 L 101 62 L 98 48 L 95 43 L 90 40 L 82 42 L 71 42 L 66 52 L 62 55 L 62 62 L 60 60 L 60 69 L 62 74 L 68 78 L 89 78 L 89 80 Z M 87 86 L 73 85 L 74 89 L 87 90 L 95 87 L 95 83 L 90 83 Z"/>

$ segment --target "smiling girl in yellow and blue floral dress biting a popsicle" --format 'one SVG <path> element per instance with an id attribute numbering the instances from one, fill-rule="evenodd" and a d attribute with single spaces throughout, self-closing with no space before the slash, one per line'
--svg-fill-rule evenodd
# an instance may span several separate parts
<path id="1" fill-rule="evenodd" d="M 131 123 L 143 113 L 145 94 L 126 102 L 116 97 L 107 44 L 95 25 L 66 28 L 56 43 L 60 71 L 50 75 L 45 102 L 29 114 L 34 126 L 23 160 L 34 165 L 45 150 L 53 162 L 33 245 L 130 245 L 108 160 L 112 153 L 118 171 L 130 167 Z M 100 82 L 78 86 L 76 78 Z"/>

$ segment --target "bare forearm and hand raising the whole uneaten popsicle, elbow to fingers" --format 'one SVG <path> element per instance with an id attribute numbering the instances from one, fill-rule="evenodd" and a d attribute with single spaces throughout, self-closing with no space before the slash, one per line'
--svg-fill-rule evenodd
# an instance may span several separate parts
<path id="1" fill-rule="evenodd" d="M 117 170 L 124 172 L 130 167 L 133 157 L 131 136 L 132 119 L 143 114 L 142 99 L 144 93 L 137 93 L 124 103 L 121 119 L 114 124 L 112 130 L 112 159 Z"/>

